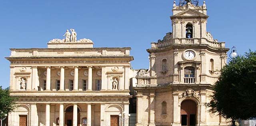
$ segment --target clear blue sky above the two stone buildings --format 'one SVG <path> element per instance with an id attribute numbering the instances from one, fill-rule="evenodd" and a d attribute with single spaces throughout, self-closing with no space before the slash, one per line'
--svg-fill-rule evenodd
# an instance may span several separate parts
<path id="1" fill-rule="evenodd" d="M 207 31 L 240 54 L 256 50 L 255 4 L 206 0 Z M 133 68 L 148 68 L 150 42 L 172 31 L 172 5 L 173 0 L 1 0 L 0 85 L 9 86 L 9 48 L 46 48 L 70 28 L 94 47 L 131 47 Z"/>

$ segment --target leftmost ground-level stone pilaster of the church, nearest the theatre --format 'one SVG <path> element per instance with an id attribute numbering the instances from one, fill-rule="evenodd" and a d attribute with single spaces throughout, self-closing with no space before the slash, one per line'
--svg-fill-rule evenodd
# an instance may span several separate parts
<path id="1" fill-rule="evenodd" d="M 142 93 L 137 93 L 136 97 L 137 97 L 136 126 L 143 126 L 142 125 L 143 111 L 142 111 L 142 107 L 140 106 L 140 105 L 142 105 L 143 94 Z"/>

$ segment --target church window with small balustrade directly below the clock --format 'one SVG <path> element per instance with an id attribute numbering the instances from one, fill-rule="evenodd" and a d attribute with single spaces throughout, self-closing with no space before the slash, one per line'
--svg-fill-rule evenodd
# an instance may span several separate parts
<path id="1" fill-rule="evenodd" d="M 186 67 L 185 74 L 184 74 L 184 83 L 185 84 L 192 84 L 195 83 L 195 68 L 193 67 Z"/>

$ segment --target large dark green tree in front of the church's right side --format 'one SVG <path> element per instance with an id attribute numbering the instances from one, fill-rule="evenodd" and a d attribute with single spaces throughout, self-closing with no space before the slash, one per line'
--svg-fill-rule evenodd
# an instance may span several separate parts
<path id="1" fill-rule="evenodd" d="M 214 85 L 210 112 L 218 112 L 225 118 L 256 117 L 256 52 L 232 59 L 223 69 Z"/>

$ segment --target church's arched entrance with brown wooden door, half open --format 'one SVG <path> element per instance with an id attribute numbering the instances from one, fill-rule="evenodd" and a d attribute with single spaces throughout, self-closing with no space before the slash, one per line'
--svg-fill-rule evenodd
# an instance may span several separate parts
<path id="1" fill-rule="evenodd" d="M 196 126 L 196 103 L 193 100 L 183 101 L 180 115 L 182 126 Z"/>

